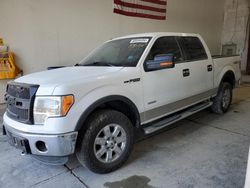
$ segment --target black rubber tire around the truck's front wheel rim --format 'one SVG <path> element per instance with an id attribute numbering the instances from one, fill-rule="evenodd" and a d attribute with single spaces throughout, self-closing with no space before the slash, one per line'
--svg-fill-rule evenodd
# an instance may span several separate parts
<path id="1" fill-rule="evenodd" d="M 101 159 L 96 157 L 97 152 L 95 151 L 95 140 L 98 135 L 100 135 L 100 131 L 104 130 L 104 127 L 113 124 L 122 127 L 123 133 L 126 133 L 124 134 L 126 137 L 126 144 L 125 147 L 123 147 L 122 153 L 117 159 L 115 159 L 115 161 L 104 163 L 100 161 Z M 83 166 L 86 166 L 95 173 L 105 174 L 118 169 L 127 161 L 134 144 L 134 129 L 131 121 L 124 114 L 115 110 L 99 110 L 88 118 L 84 126 L 87 126 L 88 128 L 83 137 L 79 140 L 80 142 L 76 152 L 76 156 Z M 114 132 L 112 132 L 112 135 L 113 133 Z M 104 136 L 106 137 L 106 135 Z M 105 147 L 107 151 L 106 147 L 108 146 L 106 146 L 106 144 L 107 143 L 105 142 L 105 146 L 102 145 L 101 148 Z M 110 151 L 111 149 L 109 148 L 108 150 Z M 113 152 L 111 156 L 113 155 Z M 105 155 L 107 157 L 108 153 L 105 153 Z"/>

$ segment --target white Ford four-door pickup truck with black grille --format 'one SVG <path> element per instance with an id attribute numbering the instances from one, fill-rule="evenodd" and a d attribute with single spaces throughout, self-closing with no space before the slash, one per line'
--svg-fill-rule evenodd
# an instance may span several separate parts
<path id="1" fill-rule="evenodd" d="M 240 57 L 212 57 L 197 34 L 116 38 L 75 66 L 10 82 L 4 133 L 43 162 L 76 153 L 90 170 L 108 173 L 139 137 L 208 107 L 225 113 L 240 78 Z"/>

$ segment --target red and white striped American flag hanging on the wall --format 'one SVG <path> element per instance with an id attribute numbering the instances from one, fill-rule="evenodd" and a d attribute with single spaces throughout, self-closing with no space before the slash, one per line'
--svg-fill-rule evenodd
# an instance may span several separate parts
<path id="1" fill-rule="evenodd" d="M 166 19 L 167 0 L 114 0 L 114 13 L 156 20 Z"/>

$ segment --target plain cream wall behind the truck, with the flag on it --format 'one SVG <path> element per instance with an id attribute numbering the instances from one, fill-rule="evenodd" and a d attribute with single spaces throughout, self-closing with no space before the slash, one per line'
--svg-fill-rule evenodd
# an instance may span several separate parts
<path id="1" fill-rule="evenodd" d="M 167 9 L 157 21 L 113 14 L 112 0 L 0 0 L 0 37 L 25 74 L 73 65 L 107 39 L 140 32 L 200 33 L 219 53 L 224 0 L 168 0 Z"/>

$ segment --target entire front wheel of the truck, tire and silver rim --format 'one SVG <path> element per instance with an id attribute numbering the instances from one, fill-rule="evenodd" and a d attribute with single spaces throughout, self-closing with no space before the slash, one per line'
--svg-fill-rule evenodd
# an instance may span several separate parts
<path id="1" fill-rule="evenodd" d="M 133 148 L 130 120 L 121 112 L 100 110 L 87 121 L 88 126 L 76 155 L 79 162 L 96 173 L 109 173 L 122 166 Z"/>

